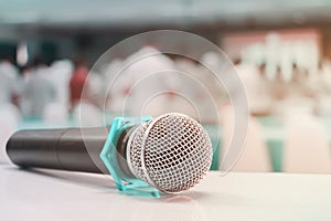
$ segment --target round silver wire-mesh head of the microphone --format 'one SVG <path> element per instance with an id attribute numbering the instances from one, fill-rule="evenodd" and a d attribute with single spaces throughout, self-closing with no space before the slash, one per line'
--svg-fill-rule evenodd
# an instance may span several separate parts
<path id="1" fill-rule="evenodd" d="M 141 180 L 163 192 L 196 185 L 212 162 L 207 133 L 194 119 L 166 114 L 141 125 L 130 145 L 129 164 Z"/>

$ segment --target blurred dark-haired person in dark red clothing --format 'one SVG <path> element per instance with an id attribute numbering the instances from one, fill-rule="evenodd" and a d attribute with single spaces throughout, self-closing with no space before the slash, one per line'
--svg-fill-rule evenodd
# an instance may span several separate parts
<path id="1" fill-rule="evenodd" d="M 81 99 L 88 99 L 82 97 L 85 83 L 87 82 L 88 67 L 86 61 L 82 57 L 77 57 L 74 61 L 74 71 L 70 80 L 70 103 L 71 109 L 81 102 Z"/>

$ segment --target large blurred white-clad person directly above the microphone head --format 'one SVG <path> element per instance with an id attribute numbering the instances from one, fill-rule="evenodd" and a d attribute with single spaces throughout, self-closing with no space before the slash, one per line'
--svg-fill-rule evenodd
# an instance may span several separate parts
<path id="1" fill-rule="evenodd" d="M 180 87 L 173 62 L 156 48 L 143 46 L 128 56 L 122 63 L 122 66 L 125 65 L 127 67 L 116 82 L 121 83 L 117 85 L 117 90 L 128 98 L 121 103 L 124 112 L 132 116 L 158 116 L 169 112 L 168 103 Z M 162 96 L 164 94 L 166 96 Z M 153 105 L 149 105 L 146 113 L 146 107 L 152 99 Z"/>

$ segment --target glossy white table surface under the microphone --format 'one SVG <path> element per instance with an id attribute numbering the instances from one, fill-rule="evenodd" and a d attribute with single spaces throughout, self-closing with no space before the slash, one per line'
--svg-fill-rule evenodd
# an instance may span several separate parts
<path id="1" fill-rule="evenodd" d="M 331 175 L 210 172 L 160 199 L 119 193 L 109 176 L 0 165 L 0 220 L 331 220 Z"/>

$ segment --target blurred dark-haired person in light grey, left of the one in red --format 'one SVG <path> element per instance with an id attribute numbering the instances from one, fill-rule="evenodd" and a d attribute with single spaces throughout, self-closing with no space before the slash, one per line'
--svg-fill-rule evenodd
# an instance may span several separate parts
<path id="1" fill-rule="evenodd" d="M 50 72 L 42 60 L 35 60 L 30 77 L 22 88 L 21 109 L 25 116 L 41 117 L 45 106 L 55 99 L 55 87 Z"/>

